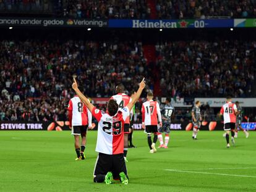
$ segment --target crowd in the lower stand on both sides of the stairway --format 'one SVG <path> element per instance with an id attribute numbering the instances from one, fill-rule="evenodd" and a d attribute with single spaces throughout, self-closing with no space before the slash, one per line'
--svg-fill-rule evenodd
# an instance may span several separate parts
<path id="1" fill-rule="evenodd" d="M 163 96 L 251 94 L 256 41 L 159 43 L 156 56 Z M 65 120 L 73 75 L 97 98 L 113 95 L 118 83 L 134 90 L 142 77 L 147 90 L 155 86 L 134 41 L 0 41 L 0 71 L 0 120 Z"/>

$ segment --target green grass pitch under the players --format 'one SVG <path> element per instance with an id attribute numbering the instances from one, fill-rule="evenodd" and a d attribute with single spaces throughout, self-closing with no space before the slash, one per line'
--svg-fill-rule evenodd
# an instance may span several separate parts
<path id="1" fill-rule="evenodd" d="M 169 148 L 150 154 L 147 136 L 135 131 L 129 185 L 105 185 L 92 179 L 96 131 L 79 162 L 70 131 L 1 131 L 0 191 L 256 191 L 256 132 L 239 132 L 229 149 L 223 131 L 200 131 L 197 141 L 191 134 L 172 131 Z"/>

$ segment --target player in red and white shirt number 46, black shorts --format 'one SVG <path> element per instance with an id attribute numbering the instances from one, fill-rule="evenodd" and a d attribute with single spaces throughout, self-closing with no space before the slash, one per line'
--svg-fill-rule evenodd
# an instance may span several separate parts
<path id="1" fill-rule="evenodd" d="M 236 115 L 237 107 L 236 104 L 232 103 L 232 98 L 227 97 L 227 102 L 221 107 L 220 114 L 224 118 L 224 131 L 226 131 L 227 148 L 229 145 L 229 131 L 231 131 L 231 141 L 234 144 L 234 129 L 236 127 Z"/>

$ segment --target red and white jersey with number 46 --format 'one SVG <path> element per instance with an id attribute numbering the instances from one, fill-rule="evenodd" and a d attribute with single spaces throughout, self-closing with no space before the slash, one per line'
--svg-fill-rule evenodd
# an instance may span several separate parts
<path id="1" fill-rule="evenodd" d="M 235 110 L 237 110 L 236 104 L 232 102 L 227 102 L 221 107 L 220 113 L 223 114 L 224 123 L 236 123 Z"/>

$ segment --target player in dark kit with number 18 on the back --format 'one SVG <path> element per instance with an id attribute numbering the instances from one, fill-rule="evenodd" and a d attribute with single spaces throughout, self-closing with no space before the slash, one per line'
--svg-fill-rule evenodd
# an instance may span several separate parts
<path id="1" fill-rule="evenodd" d="M 171 98 L 166 98 L 165 105 L 161 106 L 163 126 L 158 129 L 158 140 L 160 142 L 158 148 L 168 148 L 171 120 L 174 119 L 174 110 L 174 107 L 171 105 Z M 162 133 L 165 133 L 164 143 Z"/>

